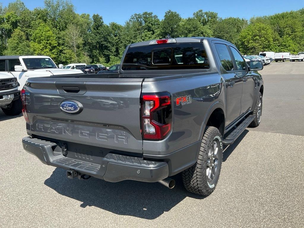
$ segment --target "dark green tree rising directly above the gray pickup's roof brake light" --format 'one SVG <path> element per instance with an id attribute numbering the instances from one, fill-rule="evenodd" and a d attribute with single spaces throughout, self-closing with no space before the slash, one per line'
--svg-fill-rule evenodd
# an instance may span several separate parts
<path id="1" fill-rule="evenodd" d="M 160 23 L 159 36 L 165 38 L 167 35 L 175 38 L 180 36 L 181 16 L 174 11 L 168 10 Z"/>

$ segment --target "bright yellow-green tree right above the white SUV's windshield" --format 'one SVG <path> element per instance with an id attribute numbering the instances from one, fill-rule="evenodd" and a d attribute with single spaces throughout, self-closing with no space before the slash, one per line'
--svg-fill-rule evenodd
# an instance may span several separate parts
<path id="1" fill-rule="evenodd" d="M 40 26 L 33 32 L 30 47 L 36 55 L 47 55 L 58 62 L 58 42 L 55 34 L 47 24 Z"/>

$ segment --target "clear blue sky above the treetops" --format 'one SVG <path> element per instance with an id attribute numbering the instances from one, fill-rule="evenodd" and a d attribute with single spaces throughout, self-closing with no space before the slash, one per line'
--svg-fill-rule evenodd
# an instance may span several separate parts
<path id="1" fill-rule="evenodd" d="M 2 0 L 2 5 L 7 6 L 12 0 Z M 34 9 L 43 7 L 42 0 L 23 0 L 26 7 Z M 134 13 L 153 12 L 160 19 L 164 13 L 171 9 L 178 12 L 182 18 L 192 16 L 199 9 L 203 11 L 217 12 L 220 17 L 240 17 L 250 19 L 252 16 L 264 16 L 275 13 L 298 10 L 304 7 L 304 0 L 207 0 L 207 1 L 185 1 L 185 0 L 72 0 L 76 12 L 88 13 L 91 16 L 98 13 L 103 17 L 105 23 L 117 22 L 123 24 Z"/>

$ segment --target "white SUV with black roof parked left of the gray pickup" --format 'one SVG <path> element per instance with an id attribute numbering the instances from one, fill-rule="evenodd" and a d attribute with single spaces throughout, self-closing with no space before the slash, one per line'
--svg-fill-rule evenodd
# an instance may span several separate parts
<path id="1" fill-rule="evenodd" d="M 0 73 L 10 72 L 21 90 L 28 78 L 63 74 L 83 74 L 81 70 L 58 68 L 48 56 L 0 56 Z"/>

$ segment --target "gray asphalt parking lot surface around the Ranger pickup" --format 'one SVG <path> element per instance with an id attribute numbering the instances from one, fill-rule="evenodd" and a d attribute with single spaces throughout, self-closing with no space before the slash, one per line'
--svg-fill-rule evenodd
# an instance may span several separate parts
<path id="1" fill-rule="evenodd" d="M 22 116 L 0 112 L 0 227 L 304 227 L 304 62 L 271 63 L 261 125 L 224 151 L 215 192 L 70 180 L 26 153 Z"/>

